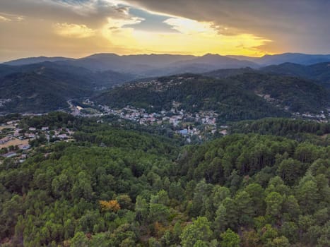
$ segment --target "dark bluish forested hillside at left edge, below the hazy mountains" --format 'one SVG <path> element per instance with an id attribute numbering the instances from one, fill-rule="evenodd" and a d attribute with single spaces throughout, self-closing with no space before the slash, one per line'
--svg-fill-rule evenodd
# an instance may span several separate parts
<path id="1" fill-rule="evenodd" d="M 134 76 L 114 71 L 44 62 L 25 66 L 0 65 L 0 112 L 49 112 L 68 107 L 67 100 L 87 97 Z"/>

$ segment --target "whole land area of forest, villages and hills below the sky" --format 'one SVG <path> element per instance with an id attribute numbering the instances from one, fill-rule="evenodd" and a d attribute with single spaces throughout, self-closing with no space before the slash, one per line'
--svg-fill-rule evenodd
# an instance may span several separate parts
<path id="1" fill-rule="evenodd" d="M 327 246 L 326 76 L 101 57 L 0 65 L 1 246 Z"/>

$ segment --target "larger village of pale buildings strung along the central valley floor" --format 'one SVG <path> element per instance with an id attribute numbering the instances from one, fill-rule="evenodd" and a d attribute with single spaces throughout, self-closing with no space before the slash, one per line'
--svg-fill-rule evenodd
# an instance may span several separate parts
<path id="1" fill-rule="evenodd" d="M 206 135 L 220 133 L 220 135 L 228 134 L 228 126 L 217 125 L 216 119 L 218 114 L 213 111 L 201 111 L 199 113 L 185 112 L 179 109 L 178 102 L 172 102 L 170 111 L 162 110 L 161 112 L 148 113 L 146 109 L 126 106 L 122 109 L 112 109 L 107 105 L 95 106 L 94 102 L 84 100 L 84 105 L 93 107 L 94 112 L 86 113 L 86 108 L 81 106 L 73 106 L 71 104 L 71 113 L 76 116 L 105 116 L 114 115 L 120 119 L 134 121 L 143 126 L 160 126 L 162 128 L 171 128 L 175 133 L 184 136 L 187 143 L 191 143 L 191 137 L 202 140 Z M 95 108 L 98 107 L 98 111 Z M 90 108 L 88 108 L 90 109 Z"/>

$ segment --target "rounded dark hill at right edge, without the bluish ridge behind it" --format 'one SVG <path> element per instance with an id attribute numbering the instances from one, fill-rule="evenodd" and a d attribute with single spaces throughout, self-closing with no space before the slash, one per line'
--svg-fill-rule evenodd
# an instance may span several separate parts
<path id="1" fill-rule="evenodd" d="M 290 112 L 326 112 L 330 105 L 330 92 L 322 85 L 289 76 L 264 73 L 243 73 L 227 79 L 244 90 L 251 90 L 268 102 Z M 228 83 L 229 83 L 228 82 Z"/>

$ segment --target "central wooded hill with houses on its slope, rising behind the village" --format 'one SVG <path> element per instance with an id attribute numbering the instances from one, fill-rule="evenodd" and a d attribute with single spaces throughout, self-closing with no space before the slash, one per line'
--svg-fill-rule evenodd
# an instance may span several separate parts
<path id="1" fill-rule="evenodd" d="M 215 111 L 220 121 L 289 115 L 254 92 L 242 90 L 226 80 L 194 74 L 128 83 L 103 92 L 94 100 L 110 107 L 131 105 L 150 112 L 170 110 L 175 101 L 180 104 L 179 109 L 187 112 Z"/>

